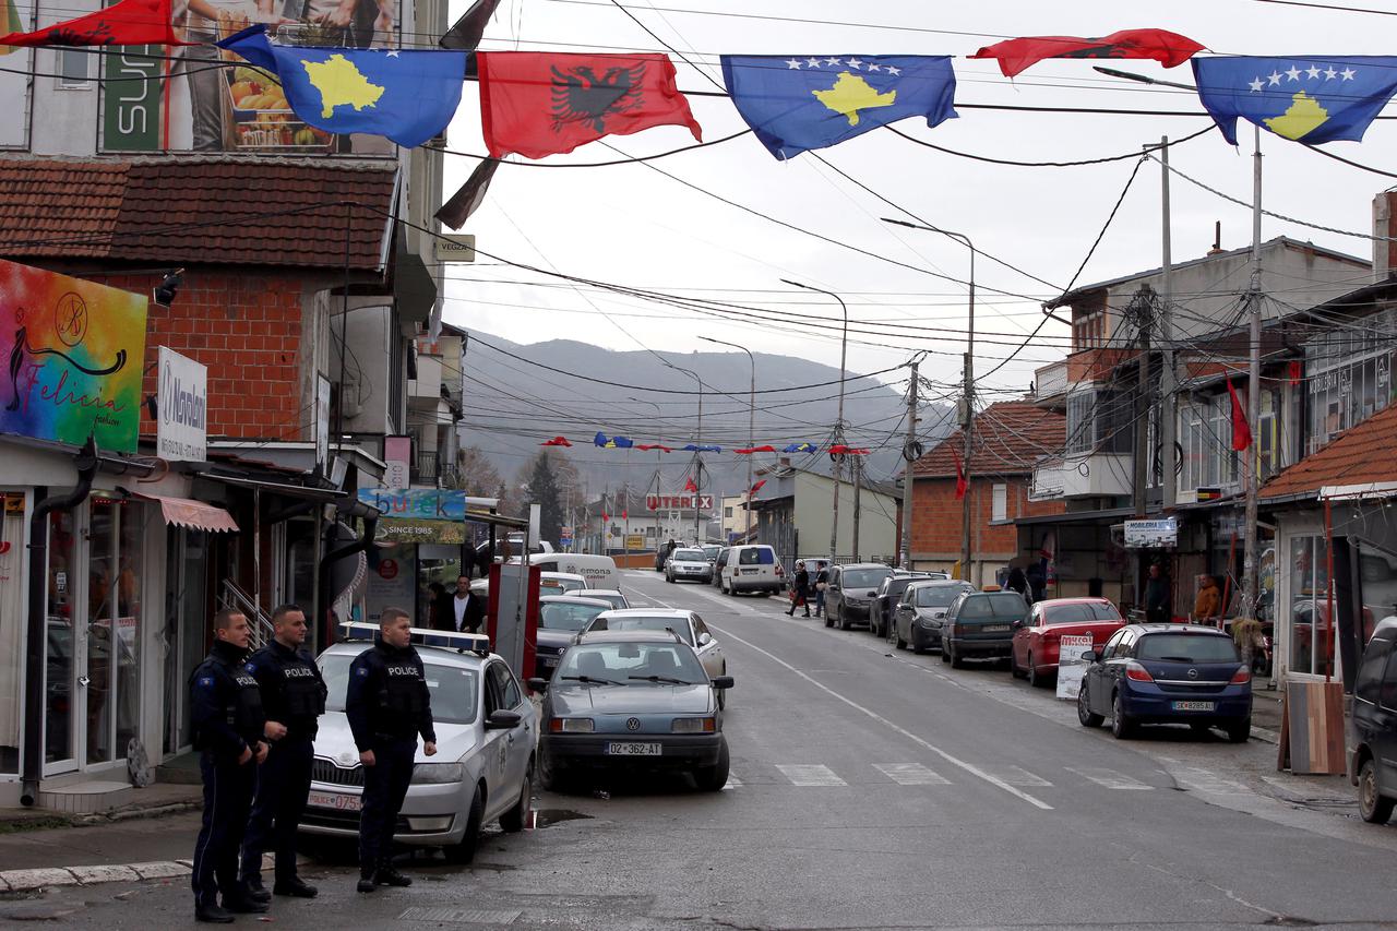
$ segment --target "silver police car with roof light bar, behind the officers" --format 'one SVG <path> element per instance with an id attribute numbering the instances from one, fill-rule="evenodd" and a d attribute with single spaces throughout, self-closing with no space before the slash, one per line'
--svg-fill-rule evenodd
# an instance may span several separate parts
<path id="1" fill-rule="evenodd" d="M 330 688 L 314 744 L 310 800 L 300 819 L 306 835 L 356 837 L 363 765 L 345 717 L 349 664 L 370 649 L 374 623 L 341 625 L 346 639 L 317 658 Z M 517 832 L 528 821 L 534 781 L 536 713 L 504 660 L 476 633 L 412 629 L 426 667 L 436 721 L 437 755 L 418 745 L 412 784 L 394 840 L 444 847 L 469 861 L 481 828 L 499 821 Z"/>

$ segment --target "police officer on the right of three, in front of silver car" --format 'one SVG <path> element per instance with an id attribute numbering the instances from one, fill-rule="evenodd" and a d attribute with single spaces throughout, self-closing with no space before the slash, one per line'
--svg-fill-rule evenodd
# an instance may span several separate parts
<path id="1" fill-rule="evenodd" d="M 402 608 L 384 608 L 373 647 L 349 667 L 345 716 L 365 766 L 359 812 L 359 892 L 411 886 L 393 868 L 393 830 L 412 781 L 412 760 L 436 756 L 432 696 L 422 657 L 412 649 L 412 621 Z"/>

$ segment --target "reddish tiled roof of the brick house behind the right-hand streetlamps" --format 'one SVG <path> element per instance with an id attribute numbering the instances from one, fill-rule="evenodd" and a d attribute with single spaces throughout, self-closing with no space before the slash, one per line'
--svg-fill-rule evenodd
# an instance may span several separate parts
<path id="1" fill-rule="evenodd" d="M 1044 456 L 1062 453 L 1067 418 L 1028 401 L 999 401 L 975 415 L 971 436 L 970 475 L 1011 475 L 1034 471 Z M 954 478 L 956 456 L 965 449 L 965 435 L 956 431 L 912 466 L 918 478 Z"/>

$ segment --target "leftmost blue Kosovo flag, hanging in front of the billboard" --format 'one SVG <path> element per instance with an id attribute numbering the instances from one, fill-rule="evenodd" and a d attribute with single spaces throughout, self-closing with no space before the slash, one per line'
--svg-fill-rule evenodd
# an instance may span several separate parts
<path id="1" fill-rule="evenodd" d="M 272 45 L 254 25 L 217 43 L 281 80 L 296 116 L 327 133 L 372 133 L 412 148 L 455 115 L 465 52 Z"/>

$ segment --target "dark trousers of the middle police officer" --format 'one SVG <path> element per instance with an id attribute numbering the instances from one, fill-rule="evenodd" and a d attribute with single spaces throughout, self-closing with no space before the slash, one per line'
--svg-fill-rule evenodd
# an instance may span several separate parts
<path id="1" fill-rule="evenodd" d="M 243 879 L 261 878 L 263 854 L 277 856 L 277 879 L 296 875 L 296 826 L 310 794 L 310 737 L 285 737 L 271 745 L 257 773 L 257 794 L 243 840 Z"/>

